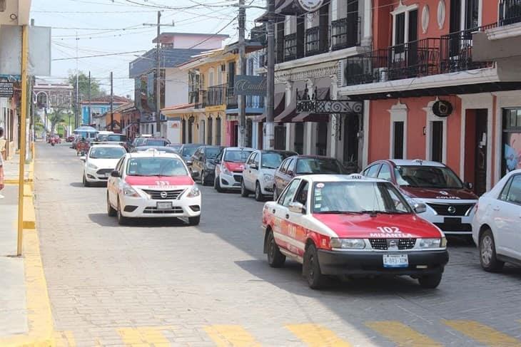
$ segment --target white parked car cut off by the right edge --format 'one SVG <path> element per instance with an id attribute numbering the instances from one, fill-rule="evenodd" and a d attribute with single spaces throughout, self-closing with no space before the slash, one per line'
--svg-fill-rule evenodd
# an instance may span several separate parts
<path id="1" fill-rule="evenodd" d="M 480 197 L 472 219 L 472 239 L 485 271 L 521 265 L 521 170 L 509 172 Z"/>

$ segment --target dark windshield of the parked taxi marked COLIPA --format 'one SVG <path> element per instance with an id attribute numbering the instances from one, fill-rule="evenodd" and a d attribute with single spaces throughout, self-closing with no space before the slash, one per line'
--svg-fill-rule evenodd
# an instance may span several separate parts
<path id="1" fill-rule="evenodd" d="M 400 186 L 462 189 L 460 178 L 448 167 L 434 166 L 397 166 L 395 167 L 396 182 Z"/>

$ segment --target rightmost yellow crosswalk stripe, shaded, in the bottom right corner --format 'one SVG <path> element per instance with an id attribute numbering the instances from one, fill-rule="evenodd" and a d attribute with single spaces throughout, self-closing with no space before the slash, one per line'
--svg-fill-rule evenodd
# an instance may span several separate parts
<path id="1" fill-rule="evenodd" d="M 513 338 L 506 333 L 497 331 L 495 328 L 485 326 L 485 324 L 477 321 L 457 320 L 457 321 L 442 321 L 450 328 L 472 338 L 479 343 L 486 346 L 497 347 L 512 347 L 521 346 L 521 341 Z"/>

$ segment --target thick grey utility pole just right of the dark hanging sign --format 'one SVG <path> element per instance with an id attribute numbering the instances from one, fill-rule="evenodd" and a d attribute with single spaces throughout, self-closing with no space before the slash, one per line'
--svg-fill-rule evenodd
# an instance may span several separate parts
<path id="1" fill-rule="evenodd" d="M 268 0 L 268 94 L 266 95 L 266 147 L 275 147 L 275 0 Z"/>

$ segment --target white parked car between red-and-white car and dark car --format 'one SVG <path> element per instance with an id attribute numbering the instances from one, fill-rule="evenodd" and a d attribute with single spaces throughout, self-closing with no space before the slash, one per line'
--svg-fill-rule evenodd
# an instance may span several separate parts
<path id="1" fill-rule="evenodd" d="M 255 199 L 262 201 L 265 195 L 273 195 L 273 175 L 280 163 L 287 157 L 298 155 L 283 150 L 256 150 L 246 160 L 241 185 L 241 195 L 248 197 L 255 193 Z"/>

